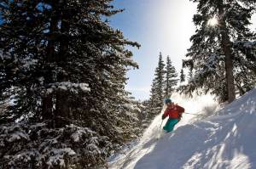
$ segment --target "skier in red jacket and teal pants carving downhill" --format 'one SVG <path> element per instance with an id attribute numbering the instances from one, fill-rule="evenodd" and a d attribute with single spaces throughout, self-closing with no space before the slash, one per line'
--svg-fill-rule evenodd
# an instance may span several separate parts
<path id="1" fill-rule="evenodd" d="M 164 120 L 166 116 L 169 116 L 169 119 L 163 129 L 166 130 L 166 132 L 172 132 L 173 127 L 177 124 L 178 121 L 180 121 L 182 113 L 185 110 L 183 107 L 174 104 L 171 99 L 165 99 L 165 103 L 167 105 L 167 108 L 164 115 L 162 115 L 162 120 Z"/>

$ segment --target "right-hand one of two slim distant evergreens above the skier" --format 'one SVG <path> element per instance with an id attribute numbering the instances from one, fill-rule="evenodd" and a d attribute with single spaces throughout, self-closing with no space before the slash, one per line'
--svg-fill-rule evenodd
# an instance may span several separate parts
<path id="1" fill-rule="evenodd" d="M 169 56 L 166 59 L 165 98 L 170 98 L 177 85 L 177 72 Z"/>

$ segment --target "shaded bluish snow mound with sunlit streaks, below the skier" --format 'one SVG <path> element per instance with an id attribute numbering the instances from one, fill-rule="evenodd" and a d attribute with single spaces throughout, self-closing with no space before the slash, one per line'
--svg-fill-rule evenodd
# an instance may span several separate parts
<path id="1" fill-rule="evenodd" d="M 210 117 L 166 134 L 136 169 L 256 168 L 256 88 Z"/>

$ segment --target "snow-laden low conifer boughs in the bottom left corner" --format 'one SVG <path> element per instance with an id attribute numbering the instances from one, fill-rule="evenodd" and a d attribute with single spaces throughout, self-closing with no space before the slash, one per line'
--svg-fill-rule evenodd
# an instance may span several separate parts
<path id="1" fill-rule="evenodd" d="M 54 129 L 45 123 L 1 125 L 0 168 L 69 168 L 84 161 L 95 166 L 112 146 L 108 137 L 73 124 Z"/>

